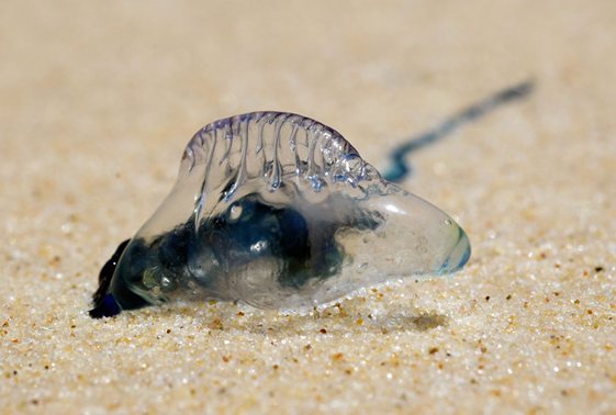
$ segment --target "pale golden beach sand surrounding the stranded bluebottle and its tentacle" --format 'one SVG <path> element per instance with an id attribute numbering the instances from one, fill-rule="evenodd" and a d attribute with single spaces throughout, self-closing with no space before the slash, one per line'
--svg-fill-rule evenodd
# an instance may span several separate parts
<path id="1" fill-rule="evenodd" d="M 2 2 L 0 413 L 616 413 L 616 2 Z M 283 110 L 413 156 L 468 267 L 306 316 L 92 321 L 97 274 L 213 120 Z"/>

